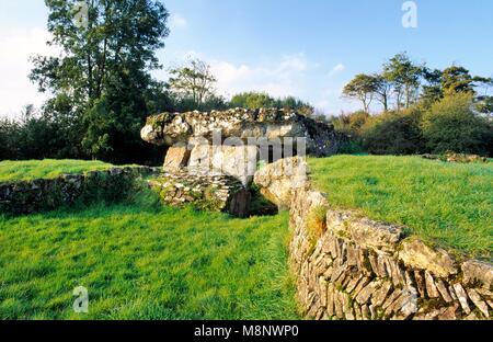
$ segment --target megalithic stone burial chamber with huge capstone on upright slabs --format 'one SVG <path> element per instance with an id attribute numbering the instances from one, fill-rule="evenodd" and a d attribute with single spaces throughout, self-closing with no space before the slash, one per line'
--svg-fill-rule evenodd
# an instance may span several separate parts
<path id="1" fill-rule="evenodd" d="M 195 181 L 199 178 L 202 189 L 208 189 L 215 182 L 214 179 L 217 181 L 217 178 L 222 178 L 222 182 L 230 184 L 232 189 L 237 189 L 236 182 L 239 182 L 248 190 L 261 166 L 293 156 L 305 157 L 307 153 L 331 156 L 345 140 L 332 125 L 278 109 L 162 113 L 148 117 L 141 129 L 141 138 L 149 144 L 162 146 L 165 150 L 164 174 L 159 180 L 161 185 L 156 181 L 152 183 L 160 192 L 176 178 L 182 181 L 185 178 Z M 268 170 L 267 172 L 272 172 Z M 279 191 L 283 191 L 283 180 L 275 182 Z M 185 187 L 191 186 L 184 185 Z M 236 209 L 225 204 L 220 210 L 238 216 L 238 207 L 241 207 L 239 216 L 245 216 L 244 208 L 249 204 L 240 205 L 238 201 L 249 202 L 250 197 L 237 196 L 236 193 L 228 192 L 236 197 L 225 200 L 225 203 L 237 203 L 233 205 Z M 174 201 L 167 193 L 164 198 L 168 200 L 164 202 L 171 205 L 197 202 L 193 200 L 194 196 L 181 195 L 182 193 L 179 196 L 181 200 Z M 197 193 L 194 195 L 197 196 Z M 262 195 L 272 200 L 279 208 L 285 207 L 283 201 L 286 198 L 278 198 L 266 192 Z"/>

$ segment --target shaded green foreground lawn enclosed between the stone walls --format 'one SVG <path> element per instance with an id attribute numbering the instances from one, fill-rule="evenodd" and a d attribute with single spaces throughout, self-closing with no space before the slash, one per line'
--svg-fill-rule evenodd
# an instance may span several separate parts
<path id="1" fill-rule="evenodd" d="M 287 223 L 154 200 L 0 217 L 0 319 L 296 319 Z"/>

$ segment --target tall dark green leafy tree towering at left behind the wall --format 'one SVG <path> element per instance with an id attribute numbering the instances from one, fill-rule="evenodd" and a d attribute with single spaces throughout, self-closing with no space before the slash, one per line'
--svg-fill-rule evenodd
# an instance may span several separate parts
<path id="1" fill-rule="evenodd" d="M 32 81 L 53 93 L 50 102 L 62 99 L 64 116 L 83 124 L 79 141 L 89 156 L 125 162 L 145 155 L 139 126 L 149 114 L 149 71 L 160 68 L 154 52 L 169 33 L 164 5 L 158 0 L 90 0 L 81 25 L 74 20 L 81 1 L 45 3 L 53 35 L 48 44 L 62 54 L 35 57 Z"/>

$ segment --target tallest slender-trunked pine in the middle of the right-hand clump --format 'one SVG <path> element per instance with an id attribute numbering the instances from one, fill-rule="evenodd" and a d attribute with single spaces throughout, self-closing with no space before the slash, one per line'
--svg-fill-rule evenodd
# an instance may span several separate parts
<path id="1" fill-rule="evenodd" d="M 398 111 L 411 106 L 417 99 L 423 67 L 416 66 L 405 53 L 398 54 L 383 65 L 382 77 L 392 84 Z"/>

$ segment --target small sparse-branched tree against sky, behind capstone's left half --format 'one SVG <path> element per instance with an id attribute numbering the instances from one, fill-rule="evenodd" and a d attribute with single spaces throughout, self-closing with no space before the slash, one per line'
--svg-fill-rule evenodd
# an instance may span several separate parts
<path id="1" fill-rule="evenodd" d="M 210 66 L 199 59 L 190 59 L 187 65 L 170 70 L 171 91 L 182 100 L 192 100 L 199 107 L 215 95 L 216 78 Z"/>

